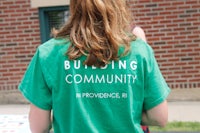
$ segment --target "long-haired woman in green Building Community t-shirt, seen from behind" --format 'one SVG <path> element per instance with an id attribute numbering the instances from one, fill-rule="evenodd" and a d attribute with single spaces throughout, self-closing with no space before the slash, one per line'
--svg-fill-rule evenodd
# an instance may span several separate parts
<path id="1" fill-rule="evenodd" d="M 124 0 L 70 0 L 70 18 L 40 45 L 19 90 L 32 133 L 142 133 L 165 126 L 170 92 L 152 48 L 130 30 Z"/>

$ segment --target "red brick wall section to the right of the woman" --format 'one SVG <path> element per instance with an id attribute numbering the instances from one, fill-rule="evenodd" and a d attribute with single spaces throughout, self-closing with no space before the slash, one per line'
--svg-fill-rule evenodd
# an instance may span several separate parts
<path id="1" fill-rule="evenodd" d="M 170 87 L 200 88 L 200 0 L 130 3 Z"/>

